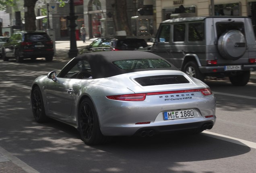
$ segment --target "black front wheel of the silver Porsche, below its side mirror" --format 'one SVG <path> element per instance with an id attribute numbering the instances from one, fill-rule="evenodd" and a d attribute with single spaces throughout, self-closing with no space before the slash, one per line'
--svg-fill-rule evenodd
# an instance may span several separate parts
<path id="1" fill-rule="evenodd" d="M 45 123 L 49 120 L 45 115 L 43 97 L 38 86 L 36 86 L 31 93 L 31 106 L 35 121 L 38 123 Z"/>

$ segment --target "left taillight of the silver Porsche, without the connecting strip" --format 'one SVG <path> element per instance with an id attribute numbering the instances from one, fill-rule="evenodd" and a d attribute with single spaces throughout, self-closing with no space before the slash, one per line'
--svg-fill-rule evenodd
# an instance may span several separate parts
<path id="1" fill-rule="evenodd" d="M 146 93 L 113 95 L 113 96 L 107 96 L 107 98 L 111 100 L 119 100 L 119 101 L 144 101 L 146 98 Z"/>

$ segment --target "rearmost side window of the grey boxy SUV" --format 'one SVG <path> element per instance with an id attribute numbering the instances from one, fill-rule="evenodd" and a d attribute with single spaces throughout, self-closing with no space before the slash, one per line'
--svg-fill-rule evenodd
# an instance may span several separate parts
<path id="1" fill-rule="evenodd" d="M 190 23 L 188 24 L 188 41 L 202 41 L 204 39 L 204 24 Z"/>

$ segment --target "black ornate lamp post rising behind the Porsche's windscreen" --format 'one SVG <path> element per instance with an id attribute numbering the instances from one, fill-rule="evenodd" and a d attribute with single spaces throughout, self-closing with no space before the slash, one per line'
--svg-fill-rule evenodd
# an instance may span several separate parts
<path id="1" fill-rule="evenodd" d="M 69 1 L 69 8 L 70 13 L 69 16 L 66 17 L 68 20 L 70 20 L 70 24 L 68 25 L 70 27 L 70 50 L 68 51 L 68 57 L 74 58 L 78 53 L 75 33 L 75 28 L 77 26 L 75 20 L 77 19 L 77 16 L 74 15 L 74 0 Z"/>

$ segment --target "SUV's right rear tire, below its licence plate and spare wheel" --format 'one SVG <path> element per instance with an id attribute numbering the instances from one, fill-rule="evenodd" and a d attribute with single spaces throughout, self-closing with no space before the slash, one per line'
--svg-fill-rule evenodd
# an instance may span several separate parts
<path id="1" fill-rule="evenodd" d="M 244 86 L 250 80 L 250 71 L 237 72 L 235 76 L 229 76 L 229 80 L 234 86 Z"/>

